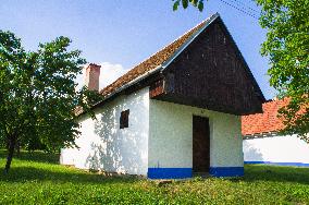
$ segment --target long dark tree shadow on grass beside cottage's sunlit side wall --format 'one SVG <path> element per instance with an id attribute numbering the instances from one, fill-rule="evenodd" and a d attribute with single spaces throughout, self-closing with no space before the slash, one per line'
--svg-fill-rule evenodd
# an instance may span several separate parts
<path id="1" fill-rule="evenodd" d="M 72 172 L 71 172 L 72 171 Z M 136 177 L 106 177 L 103 174 L 88 173 L 79 170 L 40 169 L 35 167 L 12 167 L 9 174 L 0 172 L 0 181 L 27 182 L 27 181 L 52 181 L 54 183 L 126 183 L 136 181 Z"/>

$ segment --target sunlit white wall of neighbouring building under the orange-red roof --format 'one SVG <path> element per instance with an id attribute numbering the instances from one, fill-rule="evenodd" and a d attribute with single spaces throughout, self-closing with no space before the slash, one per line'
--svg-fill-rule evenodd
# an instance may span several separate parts
<path id="1" fill-rule="evenodd" d="M 245 161 L 309 164 L 309 144 L 297 136 L 244 140 Z"/>

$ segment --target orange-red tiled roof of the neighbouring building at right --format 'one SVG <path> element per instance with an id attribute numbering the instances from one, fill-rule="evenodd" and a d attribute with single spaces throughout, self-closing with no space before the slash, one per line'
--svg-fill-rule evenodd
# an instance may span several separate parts
<path id="1" fill-rule="evenodd" d="M 263 113 L 243 116 L 242 134 L 254 135 L 284 129 L 283 120 L 277 118 L 277 110 L 288 102 L 288 99 L 268 101 L 263 104 Z"/>

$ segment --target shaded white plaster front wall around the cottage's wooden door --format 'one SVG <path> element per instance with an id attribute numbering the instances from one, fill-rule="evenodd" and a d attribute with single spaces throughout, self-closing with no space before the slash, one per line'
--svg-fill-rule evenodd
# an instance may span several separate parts
<path id="1" fill-rule="evenodd" d="M 150 168 L 193 167 L 193 116 L 210 121 L 210 167 L 243 167 L 240 118 L 150 99 Z"/>

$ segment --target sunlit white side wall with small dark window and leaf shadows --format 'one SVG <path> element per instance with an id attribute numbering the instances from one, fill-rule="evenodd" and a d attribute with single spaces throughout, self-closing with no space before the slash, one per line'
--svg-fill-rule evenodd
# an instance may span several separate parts
<path id="1" fill-rule="evenodd" d="M 121 111 L 129 109 L 128 128 L 120 129 Z M 97 120 L 81 119 L 79 149 L 62 149 L 62 164 L 82 169 L 147 174 L 149 88 L 119 96 L 95 110 Z"/>

